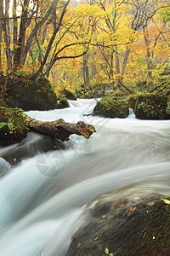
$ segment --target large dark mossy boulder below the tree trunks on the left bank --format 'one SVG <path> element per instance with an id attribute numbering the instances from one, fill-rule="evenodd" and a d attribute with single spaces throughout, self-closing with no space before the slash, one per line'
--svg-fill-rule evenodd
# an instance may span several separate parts
<path id="1" fill-rule="evenodd" d="M 4 77 L 0 86 L 3 86 Z M 4 101 L 10 108 L 24 110 L 48 110 L 57 108 L 57 96 L 47 79 L 10 76 Z"/>

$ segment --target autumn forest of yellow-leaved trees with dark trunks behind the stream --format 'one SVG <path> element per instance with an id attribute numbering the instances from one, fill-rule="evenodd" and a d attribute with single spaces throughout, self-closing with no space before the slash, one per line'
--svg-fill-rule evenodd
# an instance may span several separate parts
<path id="1" fill-rule="evenodd" d="M 168 89 L 168 0 L 1 0 L 0 6 L 6 84 L 17 74 L 89 96 Z"/>

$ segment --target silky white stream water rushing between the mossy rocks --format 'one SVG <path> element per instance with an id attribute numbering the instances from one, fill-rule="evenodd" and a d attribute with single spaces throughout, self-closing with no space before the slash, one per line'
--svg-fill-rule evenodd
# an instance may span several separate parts
<path id="1" fill-rule="evenodd" d="M 88 140 L 72 135 L 70 148 L 22 160 L 1 178 L 1 256 L 64 256 L 99 195 L 116 201 L 170 194 L 170 120 L 135 119 L 132 110 L 127 119 L 84 115 L 95 103 L 77 100 L 71 108 L 27 112 L 48 121 L 82 119 L 97 132 Z"/>

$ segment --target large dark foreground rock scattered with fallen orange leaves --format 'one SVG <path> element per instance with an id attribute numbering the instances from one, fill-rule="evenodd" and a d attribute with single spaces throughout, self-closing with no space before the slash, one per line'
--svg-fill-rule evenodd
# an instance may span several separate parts
<path id="1" fill-rule="evenodd" d="M 112 201 L 102 211 L 98 204 L 94 207 L 91 218 L 72 236 L 66 255 L 105 255 L 108 248 L 116 256 L 168 256 L 169 236 L 170 207 L 161 198 Z"/>

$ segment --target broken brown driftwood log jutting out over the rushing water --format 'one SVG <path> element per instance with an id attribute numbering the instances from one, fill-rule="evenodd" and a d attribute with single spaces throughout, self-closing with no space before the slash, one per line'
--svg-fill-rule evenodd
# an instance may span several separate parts
<path id="1" fill-rule="evenodd" d="M 43 122 L 37 119 L 31 119 L 27 116 L 29 128 L 43 135 L 56 138 L 62 142 L 68 141 L 71 134 L 82 135 L 89 138 L 94 132 L 93 125 L 87 125 L 82 121 L 77 124 L 66 123 L 64 119 L 57 119 L 51 122 Z"/>

